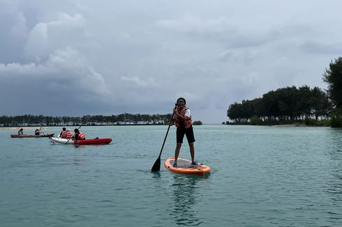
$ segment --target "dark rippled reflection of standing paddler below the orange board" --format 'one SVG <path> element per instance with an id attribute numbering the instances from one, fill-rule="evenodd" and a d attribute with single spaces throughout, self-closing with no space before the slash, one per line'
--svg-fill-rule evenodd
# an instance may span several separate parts
<path id="1" fill-rule="evenodd" d="M 199 226 L 203 222 L 197 217 L 198 197 L 200 190 L 198 182 L 202 177 L 188 175 L 174 175 L 173 204 L 170 210 L 170 216 L 179 226 Z"/>

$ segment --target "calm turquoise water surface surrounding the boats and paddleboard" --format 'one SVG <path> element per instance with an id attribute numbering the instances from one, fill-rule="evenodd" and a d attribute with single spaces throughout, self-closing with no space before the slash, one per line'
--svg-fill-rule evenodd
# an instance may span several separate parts
<path id="1" fill-rule="evenodd" d="M 342 226 L 342 130 L 195 126 L 202 178 L 164 168 L 174 127 L 151 173 L 167 129 L 82 127 L 114 141 L 76 147 L 0 128 L 0 226 Z"/>

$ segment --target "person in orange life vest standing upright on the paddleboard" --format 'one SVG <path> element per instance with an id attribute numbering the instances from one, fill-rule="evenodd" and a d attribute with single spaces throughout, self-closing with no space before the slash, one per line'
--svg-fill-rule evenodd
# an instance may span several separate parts
<path id="1" fill-rule="evenodd" d="M 172 118 L 171 125 L 176 125 L 176 137 L 177 144 L 176 149 L 174 150 L 174 167 L 177 167 L 177 159 L 179 156 L 179 151 L 181 150 L 181 143 L 183 143 L 184 135 L 186 135 L 186 139 L 188 140 L 190 155 L 191 155 L 191 165 L 198 165 L 195 162 L 195 146 L 193 143 L 195 142 L 195 136 L 193 135 L 193 123 L 191 121 L 191 113 L 190 109 L 186 107 L 186 100 L 184 97 L 179 97 L 177 100 L 177 107 L 173 109 L 174 116 Z"/>

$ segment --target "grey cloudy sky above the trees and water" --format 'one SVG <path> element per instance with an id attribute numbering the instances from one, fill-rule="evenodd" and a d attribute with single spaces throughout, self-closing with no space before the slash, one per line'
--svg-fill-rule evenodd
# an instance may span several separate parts
<path id="1" fill-rule="evenodd" d="M 327 88 L 342 1 L 0 0 L 0 115 L 168 114 Z"/>

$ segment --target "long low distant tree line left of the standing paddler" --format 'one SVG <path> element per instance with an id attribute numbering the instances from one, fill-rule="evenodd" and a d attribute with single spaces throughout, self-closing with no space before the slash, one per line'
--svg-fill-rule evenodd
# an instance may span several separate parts
<path id="1" fill-rule="evenodd" d="M 168 124 L 171 114 L 119 114 L 111 116 L 0 116 L 0 126 L 54 126 L 54 125 L 163 125 Z"/>

